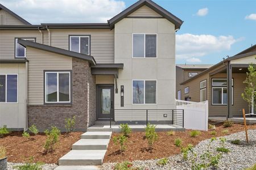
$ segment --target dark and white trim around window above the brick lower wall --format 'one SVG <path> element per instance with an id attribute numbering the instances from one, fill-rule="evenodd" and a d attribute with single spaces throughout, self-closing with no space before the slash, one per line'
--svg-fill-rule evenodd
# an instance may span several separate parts
<path id="1" fill-rule="evenodd" d="M 69 73 L 69 101 L 58 101 L 59 100 L 59 74 L 57 74 L 57 101 L 46 101 L 46 73 Z M 72 104 L 72 70 L 44 70 L 44 105 L 71 105 Z"/>

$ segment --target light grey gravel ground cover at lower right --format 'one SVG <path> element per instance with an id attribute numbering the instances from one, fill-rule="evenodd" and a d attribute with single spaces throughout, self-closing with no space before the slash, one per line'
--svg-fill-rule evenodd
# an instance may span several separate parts
<path id="1" fill-rule="evenodd" d="M 218 167 L 215 169 L 244 169 L 251 167 L 256 163 L 256 130 L 249 130 L 249 143 L 245 141 L 245 132 L 234 133 L 225 136 L 225 147 L 229 148 L 230 152 L 223 153 L 218 163 Z M 218 139 L 218 138 L 217 138 Z M 240 139 L 241 145 L 234 145 L 230 141 Z M 210 139 L 201 141 L 196 145 L 193 150 L 197 155 L 203 154 L 207 150 L 207 146 Z M 220 140 L 213 141 L 211 143 L 211 151 L 217 152 L 216 147 L 220 147 Z M 191 169 L 192 163 L 188 160 L 185 161 L 181 154 L 171 156 L 168 158 L 167 165 L 157 165 L 159 159 L 155 160 L 135 160 L 132 162 L 133 167 L 139 167 L 141 169 Z M 113 169 L 115 163 L 105 163 L 101 166 L 102 170 Z M 208 169 L 214 169 L 213 167 Z"/>

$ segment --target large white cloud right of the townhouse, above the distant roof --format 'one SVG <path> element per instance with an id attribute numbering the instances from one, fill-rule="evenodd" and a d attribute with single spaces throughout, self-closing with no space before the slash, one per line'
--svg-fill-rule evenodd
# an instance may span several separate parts
<path id="1" fill-rule="evenodd" d="M 200 57 L 210 53 L 229 50 L 237 41 L 233 36 L 193 35 L 184 33 L 176 35 L 176 57 L 188 62 L 200 62 Z"/>

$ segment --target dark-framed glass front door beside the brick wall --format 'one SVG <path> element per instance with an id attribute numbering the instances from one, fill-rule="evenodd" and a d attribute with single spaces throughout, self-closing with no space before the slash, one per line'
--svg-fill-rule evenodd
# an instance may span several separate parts
<path id="1" fill-rule="evenodd" d="M 114 117 L 114 85 L 97 85 L 97 119 L 109 120 Z"/>

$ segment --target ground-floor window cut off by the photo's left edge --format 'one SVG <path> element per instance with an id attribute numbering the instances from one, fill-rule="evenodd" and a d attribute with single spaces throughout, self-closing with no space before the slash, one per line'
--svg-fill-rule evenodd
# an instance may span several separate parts
<path id="1" fill-rule="evenodd" d="M 18 74 L 0 74 L 0 103 L 18 102 Z"/>

